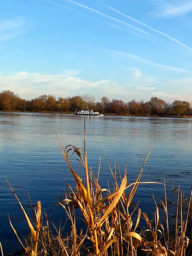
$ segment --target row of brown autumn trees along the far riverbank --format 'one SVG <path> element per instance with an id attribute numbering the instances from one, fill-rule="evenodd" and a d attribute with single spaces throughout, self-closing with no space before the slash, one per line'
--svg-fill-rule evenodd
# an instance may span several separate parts
<path id="1" fill-rule="evenodd" d="M 1 111 L 28 111 L 28 112 L 57 112 L 74 113 L 75 109 L 94 109 L 108 115 L 125 116 L 191 116 L 192 108 L 188 101 L 174 100 L 168 103 L 160 98 L 151 97 L 147 102 L 131 100 L 109 100 L 102 97 L 95 102 L 94 96 L 74 96 L 56 99 L 53 95 L 41 95 L 32 100 L 23 100 L 11 91 L 0 93 Z"/>

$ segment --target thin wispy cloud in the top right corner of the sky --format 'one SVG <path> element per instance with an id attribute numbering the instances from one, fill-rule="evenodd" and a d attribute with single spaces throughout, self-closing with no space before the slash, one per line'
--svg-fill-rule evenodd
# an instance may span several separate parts
<path id="1" fill-rule="evenodd" d="M 184 15 L 189 12 L 192 12 L 192 2 L 191 1 L 189 1 L 188 3 L 182 3 L 177 6 L 166 5 L 164 7 L 163 11 L 161 11 L 159 13 L 159 15 L 164 16 L 166 18 L 172 18 L 175 16 Z"/>

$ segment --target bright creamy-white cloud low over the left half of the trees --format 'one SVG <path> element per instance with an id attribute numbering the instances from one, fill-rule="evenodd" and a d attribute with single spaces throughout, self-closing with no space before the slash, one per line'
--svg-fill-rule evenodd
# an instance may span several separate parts
<path id="1" fill-rule="evenodd" d="M 93 94 L 89 90 L 105 87 L 109 83 L 109 80 L 91 82 L 71 75 L 76 73 L 76 70 L 67 70 L 57 75 L 28 72 L 11 76 L 1 75 L 0 91 L 10 90 L 22 99 L 31 100 L 42 94 L 53 94 L 56 97 L 75 96 L 82 90 L 86 91 L 86 94 Z"/>

